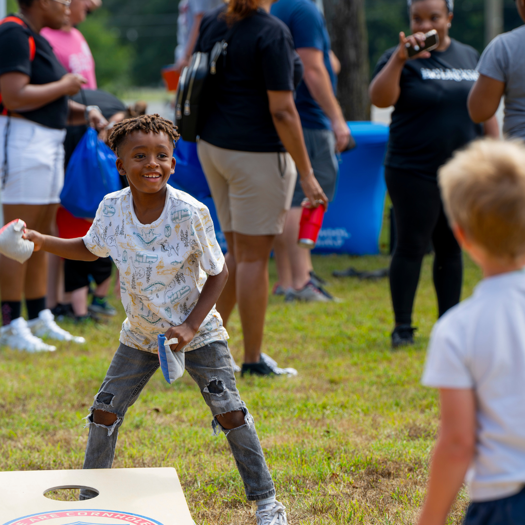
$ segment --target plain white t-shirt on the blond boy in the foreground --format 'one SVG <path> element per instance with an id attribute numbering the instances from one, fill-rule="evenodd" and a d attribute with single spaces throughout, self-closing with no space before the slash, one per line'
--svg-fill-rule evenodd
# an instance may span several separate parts
<path id="1" fill-rule="evenodd" d="M 435 325 L 423 384 L 472 388 L 477 401 L 470 498 L 488 501 L 525 485 L 525 272 L 484 279 Z"/>

